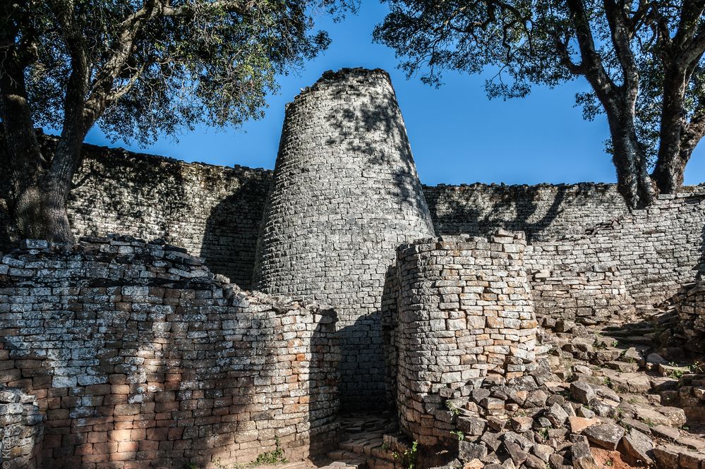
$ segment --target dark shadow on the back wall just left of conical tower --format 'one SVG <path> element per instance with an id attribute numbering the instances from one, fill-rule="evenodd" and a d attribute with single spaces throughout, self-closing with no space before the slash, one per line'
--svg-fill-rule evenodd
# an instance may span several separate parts
<path id="1" fill-rule="evenodd" d="M 258 233 L 263 221 L 262 200 L 270 185 L 248 178 L 237 190 L 213 207 L 208 215 L 200 257 L 214 274 L 227 276 L 243 289 L 253 288 L 252 273 Z"/>

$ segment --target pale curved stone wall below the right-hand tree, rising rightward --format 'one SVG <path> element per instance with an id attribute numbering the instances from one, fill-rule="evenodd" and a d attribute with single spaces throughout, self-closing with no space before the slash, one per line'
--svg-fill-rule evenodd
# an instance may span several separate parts
<path id="1" fill-rule="evenodd" d="M 695 279 L 705 252 L 705 192 L 661 195 L 647 209 L 634 210 L 584 235 L 529 245 L 529 271 L 619 266 L 627 293 L 637 303 L 656 304 Z"/>

